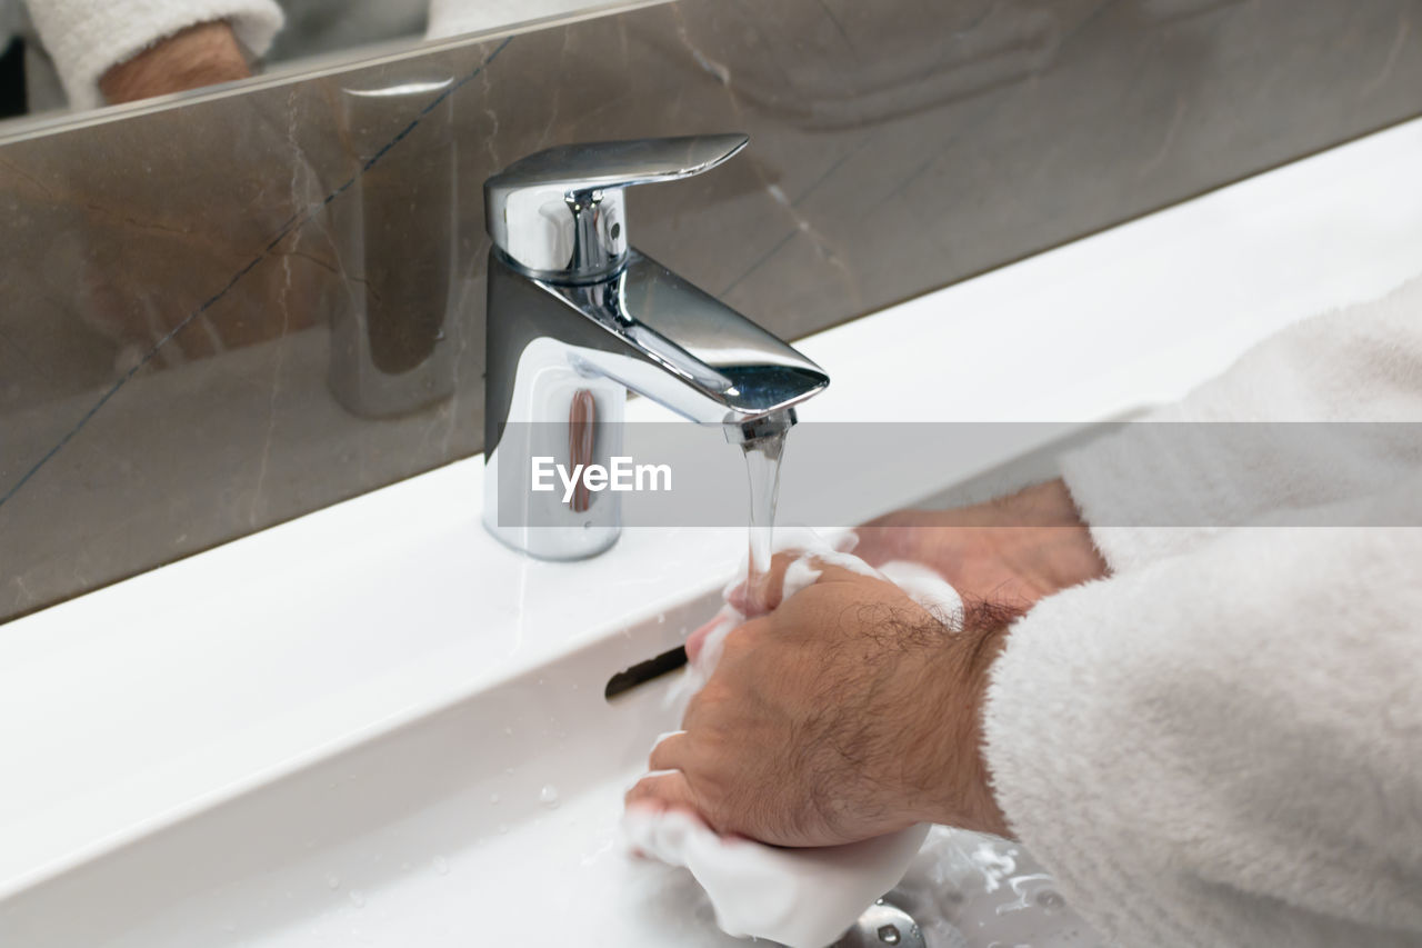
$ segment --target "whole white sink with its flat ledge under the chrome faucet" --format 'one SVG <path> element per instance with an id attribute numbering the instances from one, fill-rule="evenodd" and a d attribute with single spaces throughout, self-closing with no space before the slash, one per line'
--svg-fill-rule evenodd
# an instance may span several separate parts
<path id="1" fill-rule="evenodd" d="M 833 377 L 802 417 L 1081 428 L 1179 397 L 1411 276 L 1419 164 L 1413 122 L 802 340 Z M 1051 434 L 1004 430 L 823 463 L 869 517 Z M 481 528 L 481 478 L 451 464 L 0 628 L 0 945 L 729 944 L 684 874 L 613 843 L 673 715 L 664 679 L 603 686 L 708 615 L 744 532 L 529 562 Z M 1091 944 L 1024 851 L 980 843 L 936 837 L 903 897 L 937 894 L 967 944 Z"/>

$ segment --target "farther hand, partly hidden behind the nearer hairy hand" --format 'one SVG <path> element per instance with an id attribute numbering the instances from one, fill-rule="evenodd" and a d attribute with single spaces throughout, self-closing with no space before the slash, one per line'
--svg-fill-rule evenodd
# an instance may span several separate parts
<path id="1" fill-rule="evenodd" d="M 936 569 L 967 599 L 1027 611 L 1038 599 L 1106 575 L 1061 480 L 946 511 L 902 510 L 856 530 L 855 555 Z"/>

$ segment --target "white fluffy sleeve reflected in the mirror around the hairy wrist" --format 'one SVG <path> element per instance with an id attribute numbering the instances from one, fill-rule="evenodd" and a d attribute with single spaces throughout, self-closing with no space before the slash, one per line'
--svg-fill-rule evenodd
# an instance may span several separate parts
<path id="1" fill-rule="evenodd" d="M 199 23 L 226 20 L 260 56 L 282 28 L 274 0 L 28 0 L 30 19 L 74 108 L 102 105 L 109 67 Z"/>

